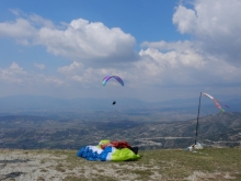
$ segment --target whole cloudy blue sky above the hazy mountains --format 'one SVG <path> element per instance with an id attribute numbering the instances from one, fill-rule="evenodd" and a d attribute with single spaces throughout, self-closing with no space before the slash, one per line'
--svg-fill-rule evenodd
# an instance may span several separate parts
<path id="1" fill-rule="evenodd" d="M 1 0 L 0 98 L 241 95 L 240 0 Z M 105 76 L 119 76 L 125 86 Z"/>

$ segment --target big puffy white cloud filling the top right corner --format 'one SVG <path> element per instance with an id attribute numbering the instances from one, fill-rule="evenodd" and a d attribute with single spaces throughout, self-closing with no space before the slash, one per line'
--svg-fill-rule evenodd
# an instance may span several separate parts
<path id="1" fill-rule="evenodd" d="M 205 53 L 240 66 L 240 0 L 195 0 L 193 9 L 176 8 L 173 23 L 181 33 L 193 35 Z"/>

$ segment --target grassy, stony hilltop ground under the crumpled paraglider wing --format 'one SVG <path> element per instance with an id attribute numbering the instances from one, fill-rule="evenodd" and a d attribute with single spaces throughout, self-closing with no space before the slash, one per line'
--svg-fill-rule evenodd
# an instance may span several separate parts
<path id="1" fill-rule="evenodd" d="M 0 149 L 0 180 L 241 180 L 240 148 L 148 150 L 124 162 L 88 161 L 76 152 Z"/>

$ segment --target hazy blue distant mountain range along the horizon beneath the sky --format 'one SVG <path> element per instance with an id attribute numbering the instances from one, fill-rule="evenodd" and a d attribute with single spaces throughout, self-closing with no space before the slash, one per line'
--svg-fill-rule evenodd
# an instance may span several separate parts
<path id="1" fill-rule="evenodd" d="M 53 112 L 53 111 L 124 111 L 124 112 L 141 112 L 141 111 L 184 111 L 196 113 L 199 98 L 193 99 L 173 99 L 161 102 L 145 102 L 137 99 L 126 98 L 117 99 L 116 104 L 112 105 L 114 101 L 110 99 L 92 99 L 92 98 L 77 98 L 71 100 L 50 98 L 44 95 L 12 95 L 0 98 L 0 113 L 4 112 Z M 225 103 L 230 108 L 223 109 L 227 112 L 241 112 L 241 98 L 233 99 L 232 97 L 225 97 Z M 202 111 L 207 114 L 217 113 L 211 100 L 208 98 L 202 99 Z"/>

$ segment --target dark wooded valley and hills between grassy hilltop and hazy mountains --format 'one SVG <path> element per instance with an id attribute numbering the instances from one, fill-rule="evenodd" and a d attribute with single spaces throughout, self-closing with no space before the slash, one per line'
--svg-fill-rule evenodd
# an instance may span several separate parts
<path id="1" fill-rule="evenodd" d="M 196 120 L 129 121 L 53 118 L 34 115 L 0 116 L 0 148 L 79 149 L 101 139 L 126 140 L 139 149 L 186 148 L 194 144 Z M 199 118 L 197 142 L 205 147 L 239 147 L 241 113 L 217 113 Z"/>

